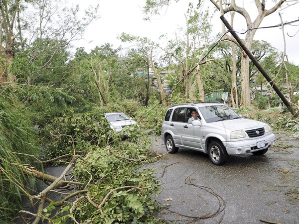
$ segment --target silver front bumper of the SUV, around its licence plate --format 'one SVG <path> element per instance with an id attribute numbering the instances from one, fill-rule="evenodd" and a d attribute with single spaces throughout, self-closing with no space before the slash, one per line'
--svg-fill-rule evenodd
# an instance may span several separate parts
<path id="1" fill-rule="evenodd" d="M 240 155 L 245 153 L 256 152 L 259 150 L 266 149 L 274 145 L 275 134 L 271 133 L 261 138 L 255 139 L 244 139 L 239 141 L 223 142 L 226 148 L 227 154 L 229 155 Z M 257 142 L 265 141 L 265 147 L 258 148 Z"/>

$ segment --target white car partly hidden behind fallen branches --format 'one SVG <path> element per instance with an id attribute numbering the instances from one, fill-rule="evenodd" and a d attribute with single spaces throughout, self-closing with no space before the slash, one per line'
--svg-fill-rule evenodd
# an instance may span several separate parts
<path id="1" fill-rule="evenodd" d="M 107 118 L 108 122 L 110 123 L 110 127 L 115 130 L 115 132 L 119 132 L 123 128 L 133 124 L 138 126 L 137 122 L 134 121 L 132 117 L 128 117 L 122 112 L 104 113 L 104 116 Z"/>

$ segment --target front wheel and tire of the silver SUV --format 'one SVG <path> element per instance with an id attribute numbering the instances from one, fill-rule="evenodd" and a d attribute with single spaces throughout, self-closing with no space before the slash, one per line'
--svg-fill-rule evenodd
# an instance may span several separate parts
<path id="1" fill-rule="evenodd" d="M 220 141 L 212 140 L 208 148 L 209 157 L 215 165 L 222 165 L 227 162 L 228 154 Z"/>

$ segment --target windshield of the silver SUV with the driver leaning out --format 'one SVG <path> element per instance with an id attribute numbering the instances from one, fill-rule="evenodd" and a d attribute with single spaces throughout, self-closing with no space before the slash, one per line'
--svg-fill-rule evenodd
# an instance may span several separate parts
<path id="1" fill-rule="evenodd" d="M 202 107 L 199 108 L 199 111 L 207 123 L 241 118 L 236 112 L 224 105 Z"/>

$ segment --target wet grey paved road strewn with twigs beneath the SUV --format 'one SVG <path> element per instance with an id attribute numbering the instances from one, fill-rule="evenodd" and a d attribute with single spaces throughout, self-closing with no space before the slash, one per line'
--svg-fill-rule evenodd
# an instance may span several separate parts
<path id="1" fill-rule="evenodd" d="M 156 216 L 171 224 L 299 224 L 299 141 L 276 135 L 265 155 L 230 156 L 222 166 L 182 148 L 150 164 L 162 183 L 157 200 L 166 208 Z M 153 137 L 152 150 L 166 153 L 160 137 Z"/>

